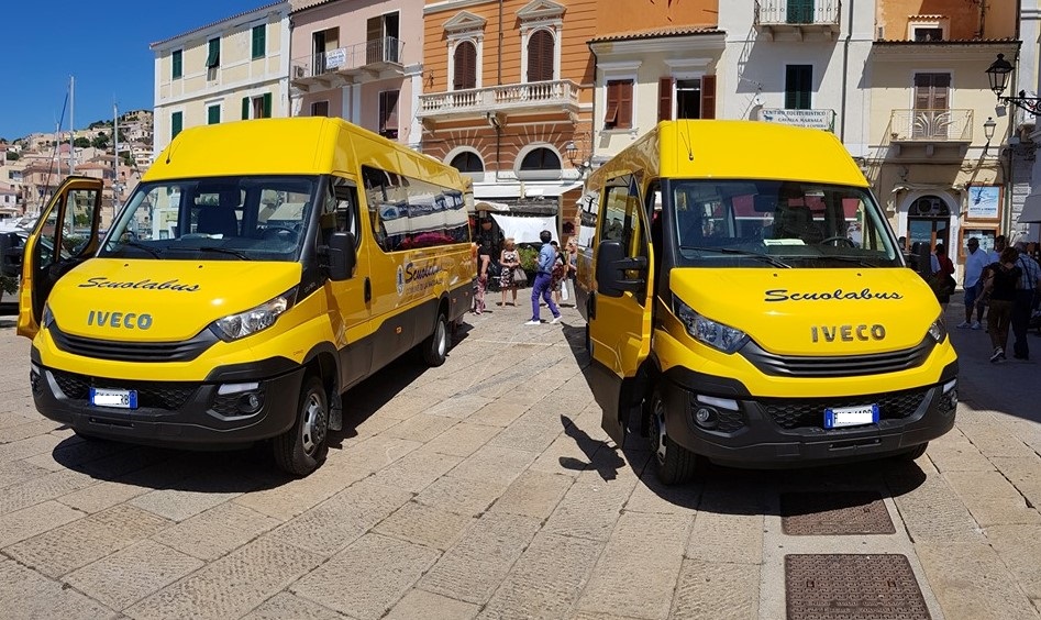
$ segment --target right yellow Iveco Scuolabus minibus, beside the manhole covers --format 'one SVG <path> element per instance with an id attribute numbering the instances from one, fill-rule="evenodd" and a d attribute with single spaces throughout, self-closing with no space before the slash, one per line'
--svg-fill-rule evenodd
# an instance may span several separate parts
<path id="1" fill-rule="evenodd" d="M 591 386 L 666 484 L 732 466 L 917 457 L 957 359 L 863 174 L 820 130 L 671 121 L 597 169 L 577 305 Z"/>

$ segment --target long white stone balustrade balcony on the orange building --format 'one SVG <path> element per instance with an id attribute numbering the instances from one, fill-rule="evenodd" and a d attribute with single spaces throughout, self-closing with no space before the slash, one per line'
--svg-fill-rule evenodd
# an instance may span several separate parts
<path id="1" fill-rule="evenodd" d="M 495 125 L 509 113 L 578 113 L 578 85 L 571 80 L 509 84 L 420 95 L 417 117 L 422 121 L 486 118 Z"/>

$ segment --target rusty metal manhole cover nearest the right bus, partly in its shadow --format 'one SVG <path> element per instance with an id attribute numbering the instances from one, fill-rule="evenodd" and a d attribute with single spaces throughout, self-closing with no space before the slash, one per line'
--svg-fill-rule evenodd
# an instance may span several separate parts
<path id="1" fill-rule="evenodd" d="M 790 535 L 893 534 L 877 491 L 783 492 L 780 527 Z"/>

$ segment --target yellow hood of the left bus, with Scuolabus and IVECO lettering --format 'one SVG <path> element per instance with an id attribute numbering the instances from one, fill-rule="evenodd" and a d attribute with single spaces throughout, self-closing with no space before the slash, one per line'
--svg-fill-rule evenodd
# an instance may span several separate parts
<path id="1" fill-rule="evenodd" d="M 299 263 L 92 258 L 58 280 L 47 303 L 67 334 L 177 342 L 298 284 Z"/>

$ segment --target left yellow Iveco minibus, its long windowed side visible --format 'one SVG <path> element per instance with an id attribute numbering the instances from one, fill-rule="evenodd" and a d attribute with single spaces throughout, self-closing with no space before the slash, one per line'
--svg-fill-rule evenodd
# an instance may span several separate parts
<path id="1" fill-rule="evenodd" d="M 444 362 L 473 296 L 466 189 L 326 118 L 181 132 L 103 235 L 101 181 L 67 179 L 23 259 L 36 408 L 87 438 L 272 439 L 307 475 L 341 392 L 410 350 Z"/>

